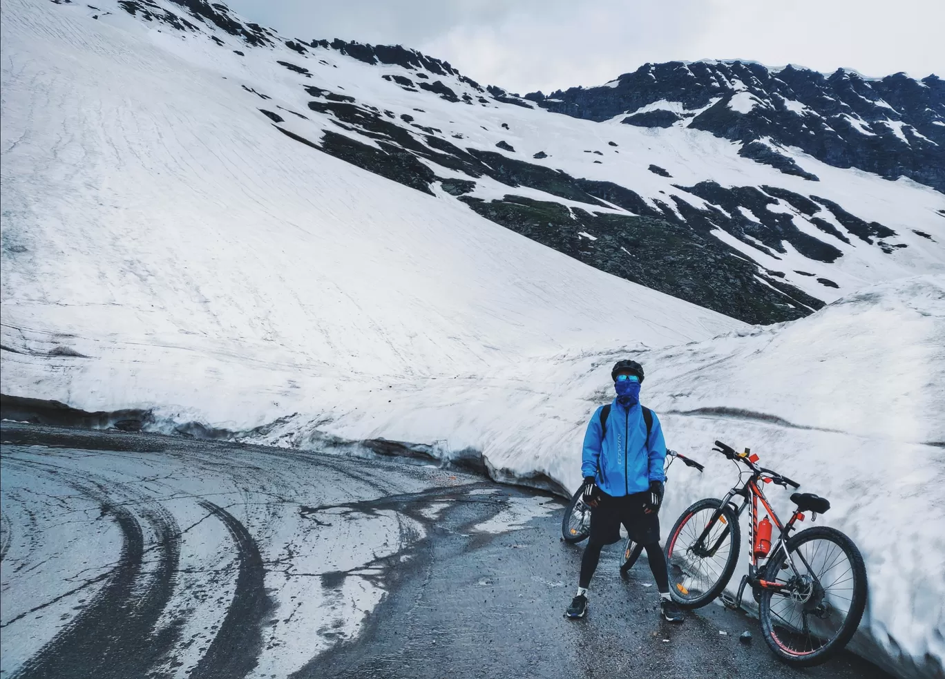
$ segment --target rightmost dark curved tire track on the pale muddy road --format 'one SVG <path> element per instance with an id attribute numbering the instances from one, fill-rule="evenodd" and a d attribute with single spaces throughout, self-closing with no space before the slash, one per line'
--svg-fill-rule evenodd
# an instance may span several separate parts
<path id="1" fill-rule="evenodd" d="M 200 501 L 227 527 L 236 546 L 239 572 L 230 609 L 216 637 L 190 679 L 239 679 L 255 669 L 263 650 L 262 623 L 274 609 L 266 594 L 266 567 L 252 535 L 230 512 L 211 501 Z"/>

